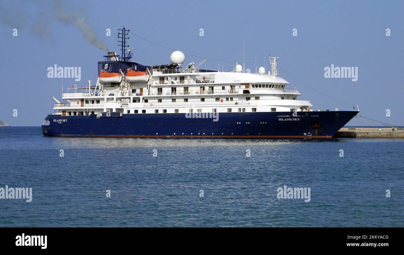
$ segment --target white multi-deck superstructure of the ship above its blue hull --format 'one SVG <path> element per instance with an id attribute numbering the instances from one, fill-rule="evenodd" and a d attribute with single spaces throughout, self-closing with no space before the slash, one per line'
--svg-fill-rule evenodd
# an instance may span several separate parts
<path id="1" fill-rule="evenodd" d="M 182 52 L 171 60 L 183 64 Z M 272 72 L 245 73 L 198 69 L 193 62 L 185 68 L 147 70 L 139 78 L 98 78 L 95 86 L 69 88 L 56 101 L 55 112 L 62 116 L 121 112 L 122 114 L 165 114 L 188 112 L 291 112 L 309 111 L 308 100 L 299 100 L 296 89 L 278 77 L 276 58 L 270 58 Z M 242 68 L 242 67 L 241 67 Z"/>

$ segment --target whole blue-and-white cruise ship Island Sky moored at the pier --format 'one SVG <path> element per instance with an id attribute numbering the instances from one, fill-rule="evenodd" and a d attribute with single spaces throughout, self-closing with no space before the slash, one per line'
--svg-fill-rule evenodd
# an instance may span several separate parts
<path id="1" fill-rule="evenodd" d="M 121 55 L 108 52 L 98 62 L 95 85 L 69 87 L 55 100 L 42 133 L 61 137 L 144 138 L 332 138 L 358 111 L 314 111 L 309 100 L 271 70 L 245 72 L 183 65 L 181 51 L 170 64 L 132 62 L 128 30 L 119 29 Z M 219 69 L 219 68 L 218 68 Z"/>

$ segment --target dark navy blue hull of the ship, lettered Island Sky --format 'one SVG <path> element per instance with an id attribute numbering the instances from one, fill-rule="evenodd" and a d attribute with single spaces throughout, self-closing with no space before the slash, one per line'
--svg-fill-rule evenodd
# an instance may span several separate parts
<path id="1" fill-rule="evenodd" d="M 358 112 L 226 112 L 212 118 L 185 114 L 122 114 L 122 117 L 48 115 L 45 136 L 186 138 L 332 138 Z"/>

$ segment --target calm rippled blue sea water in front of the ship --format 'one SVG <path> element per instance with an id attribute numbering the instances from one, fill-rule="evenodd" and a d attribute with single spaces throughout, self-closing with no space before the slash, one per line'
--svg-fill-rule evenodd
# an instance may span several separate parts
<path id="1" fill-rule="evenodd" d="M 7 127 L 0 157 L 0 187 L 33 193 L 0 199 L 1 227 L 404 226 L 404 139 L 58 138 Z M 284 185 L 309 187 L 311 201 L 278 199 Z"/>

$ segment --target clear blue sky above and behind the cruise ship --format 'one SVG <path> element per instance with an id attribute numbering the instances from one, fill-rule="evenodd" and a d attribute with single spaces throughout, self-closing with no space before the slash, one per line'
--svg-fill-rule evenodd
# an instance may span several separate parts
<path id="1" fill-rule="evenodd" d="M 268 70 L 268 54 L 279 56 L 279 76 L 299 90 L 300 99 L 311 100 L 315 110 L 353 110 L 358 104 L 363 116 L 404 125 L 403 1 L 63 2 L 66 10 L 86 14 L 86 23 L 109 50 L 118 52 L 116 33 L 124 25 L 136 35 L 183 51 L 186 63 L 208 58 L 203 67 L 217 70 L 218 61 L 211 59 L 226 60 L 220 66 L 230 70 L 234 61 L 243 61 L 244 41 L 246 68 L 255 71 L 257 58 L 257 66 L 265 59 Z M 53 5 L 2 3 L 0 120 L 12 126 L 41 125 L 53 112 L 52 96 L 60 99 L 62 79 L 49 79 L 49 66 L 80 66 L 78 85 L 83 85 L 97 74 L 97 61 L 105 55 L 76 27 L 49 18 Z M 109 37 L 107 28 L 112 30 Z M 199 35 L 201 28 L 204 36 Z M 293 29 L 297 36 L 292 36 Z M 171 50 L 129 37 L 129 46 L 137 48 L 134 61 L 170 63 Z M 358 67 L 358 81 L 324 78 L 324 68 L 331 64 Z M 64 88 L 72 83 L 74 79 L 63 79 Z M 372 125 L 357 118 L 348 124 Z"/>

